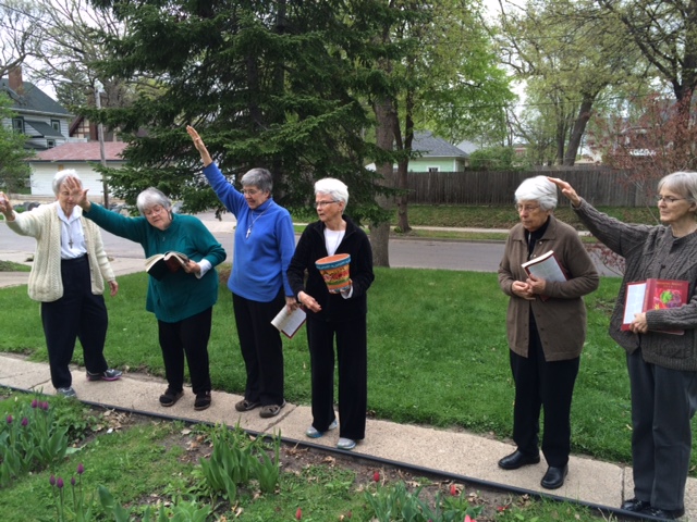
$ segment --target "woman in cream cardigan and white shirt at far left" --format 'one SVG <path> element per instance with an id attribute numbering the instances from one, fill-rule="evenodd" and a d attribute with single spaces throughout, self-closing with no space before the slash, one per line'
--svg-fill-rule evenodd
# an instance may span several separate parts
<path id="1" fill-rule="evenodd" d="M 41 303 L 41 323 L 48 348 L 51 383 L 64 397 L 75 397 L 69 364 L 75 339 L 83 346 L 88 381 L 115 381 L 119 370 L 110 369 L 103 356 L 108 313 L 105 281 L 111 296 L 119 285 L 101 243 L 99 228 L 75 208 L 68 181 L 81 182 L 72 170 L 53 177 L 57 201 L 32 212 L 16 214 L 0 192 L 0 212 L 10 229 L 36 238 L 36 252 L 29 274 L 29 297 Z"/>

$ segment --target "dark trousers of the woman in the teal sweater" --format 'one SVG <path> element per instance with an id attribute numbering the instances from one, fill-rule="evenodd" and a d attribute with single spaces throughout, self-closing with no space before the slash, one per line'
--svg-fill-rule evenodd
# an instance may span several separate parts
<path id="1" fill-rule="evenodd" d="M 208 339 L 212 311 L 211 307 L 176 323 L 157 322 L 164 375 L 173 391 L 181 391 L 184 387 L 184 356 L 194 394 L 210 391 Z"/>

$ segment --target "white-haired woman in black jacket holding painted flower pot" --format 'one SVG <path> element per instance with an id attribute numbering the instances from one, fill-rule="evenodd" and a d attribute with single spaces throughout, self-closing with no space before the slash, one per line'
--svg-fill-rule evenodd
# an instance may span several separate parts
<path id="1" fill-rule="evenodd" d="M 344 210 L 348 190 L 339 179 L 315 184 L 319 221 L 309 224 L 288 271 L 297 301 L 307 310 L 313 388 L 313 424 L 305 434 L 321 437 L 338 425 L 334 413 L 334 338 L 339 363 L 339 449 L 365 438 L 368 399 L 367 291 L 372 275 L 370 241 Z M 351 286 L 330 293 L 315 261 L 335 253 L 351 256 Z M 307 281 L 305 281 L 307 274 Z"/>

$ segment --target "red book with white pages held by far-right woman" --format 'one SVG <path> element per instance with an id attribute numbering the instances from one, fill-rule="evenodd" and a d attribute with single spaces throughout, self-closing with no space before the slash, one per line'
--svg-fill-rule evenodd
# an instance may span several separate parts
<path id="1" fill-rule="evenodd" d="M 649 278 L 636 283 L 627 283 L 624 299 L 624 316 L 621 330 L 629 330 L 635 313 L 664 308 L 678 308 L 687 302 L 689 284 L 680 279 Z M 683 335 L 684 330 L 658 330 L 664 334 Z"/>

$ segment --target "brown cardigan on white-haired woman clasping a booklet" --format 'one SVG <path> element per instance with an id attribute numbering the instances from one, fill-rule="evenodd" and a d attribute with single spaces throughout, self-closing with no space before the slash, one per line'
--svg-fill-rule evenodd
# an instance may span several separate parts
<path id="1" fill-rule="evenodd" d="M 547 361 L 574 359 L 580 355 L 586 339 L 586 306 L 582 296 L 590 294 L 600 282 L 598 272 L 586 252 L 578 233 L 570 225 L 558 221 L 553 215 L 545 235 L 537 241 L 533 257 L 549 250 L 566 271 L 568 281 L 547 283 L 545 294 L 549 299 L 539 297 L 534 301 L 522 299 L 511 291 L 514 281 L 525 281 L 527 275 L 521 266 L 527 261 L 525 228 L 515 225 L 509 235 L 499 264 L 499 285 L 511 297 L 506 314 L 509 346 L 515 353 L 527 357 L 529 345 L 530 308 L 535 315 L 537 330 L 542 343 Z"/>

